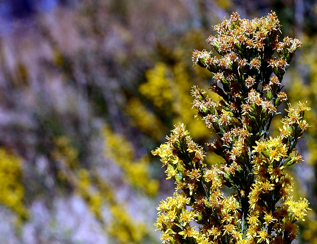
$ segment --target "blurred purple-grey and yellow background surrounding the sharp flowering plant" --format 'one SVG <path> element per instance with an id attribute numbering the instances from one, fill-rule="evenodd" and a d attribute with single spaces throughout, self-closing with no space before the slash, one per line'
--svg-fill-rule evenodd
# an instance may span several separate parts
<path id="1" fill-rule="evenodd" d="M 233 11 L 271 10 L 303 42 L 283 82 L 312 107 L 290 173 L 312 208 L 297 243 L 317 244 L 314 0 L 0 0 L 0 243 L 160 243 L 155 207 L 174 184 L 150 151 L 178 122 L 213 137 L 191 110 L 191 86 L 211 82 L 192 51 Z"/>

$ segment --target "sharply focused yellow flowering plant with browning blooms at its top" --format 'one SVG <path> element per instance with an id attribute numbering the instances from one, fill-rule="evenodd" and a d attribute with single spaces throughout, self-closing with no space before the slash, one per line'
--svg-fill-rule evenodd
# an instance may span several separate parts
<path id="1" fill-rule="evenodd" d="M 216 138 L 208 150 L 223 163 L 208 167 L 203 147 L 179 124 L 152 153 L 161 158 L 176 191 L 158 205 L 156 227 L 170 244 L 289 244 L 298 234 L 308 201 L 294 201 L 285 169 L 300 163 L 297 140 L 310 108 L 288 104 L 280 135 L 269 137 L 277 107 L 287 100 L 281 81 L 301 42 L 278 41 L 274 12 L 253 20 L 233 13 L 207 41 L 216 52 L 193 52 L 195 64 L 213 73 L 212 100 L 194 86 L 193 107 Z"/>

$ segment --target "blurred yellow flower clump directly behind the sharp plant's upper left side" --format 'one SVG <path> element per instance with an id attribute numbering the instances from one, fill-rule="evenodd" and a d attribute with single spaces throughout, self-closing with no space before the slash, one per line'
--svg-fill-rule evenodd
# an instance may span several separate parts
<path id="1" fill-rule="evenodd" d="M 187 66 L 184 61 L 178 61 L 174 65 L 158 62 L 153 69 L 147 70 L 147 81 L 139 86 L 139 92 L 153 104 L 154 110 L 165 117 L 165 120 L 172 118 L 173 124 L 186 122 L 193 138 L 201 140 L 205 139 L 207 128 L 203 126 L 203 122 L 194 119 L 193 110 L 184 109 L 192 102 L 190 94 L 187 93 L 193 85 Z M 144 105 L 139 103 L 136 104 L 134 99 L 130 99 L 127 113 L 141 131 L 159 141 L 166 133 L 164 122 L 159 121 L 154 114 L 146 113 Z"/>

